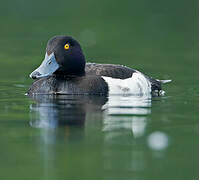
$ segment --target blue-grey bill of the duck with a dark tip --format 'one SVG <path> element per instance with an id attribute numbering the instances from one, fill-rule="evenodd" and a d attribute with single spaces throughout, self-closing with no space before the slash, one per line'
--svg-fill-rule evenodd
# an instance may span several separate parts
<path id="1" fill-rule="evenodd" d="M 50 55 L 46 53 L 45 59 L 43 60 L 41 65 L 30 74 L 30 77 L 32 79 L 38 79 L 38 78 L 50 76 L 58 68 L 59 68 L 59 64 L 56 61 L 54 53 L 51 53 Z"/>

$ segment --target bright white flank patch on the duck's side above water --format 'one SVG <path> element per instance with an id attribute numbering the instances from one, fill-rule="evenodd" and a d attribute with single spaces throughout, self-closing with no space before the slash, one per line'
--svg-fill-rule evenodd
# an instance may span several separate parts
<path id="1" fill-rule="evenodd" d="M 133 73 L 128 79 L 115 79 L 102 76 L 109 87 L 109 95 L 149 95 L 151 93 L 151 83 L 139 71 Z"/>

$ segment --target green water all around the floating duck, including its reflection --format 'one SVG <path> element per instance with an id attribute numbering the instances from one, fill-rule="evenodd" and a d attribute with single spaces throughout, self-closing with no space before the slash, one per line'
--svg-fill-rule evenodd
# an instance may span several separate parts
<path id="1" fill-rule="evenodd" d="M 0 179 L 199 178 L 198 1 L 1 1 Z M 47 40 L 172 79 L 160 98 L 30 99 Z M 138 107 L 139 106 L 139 107 Z"/>

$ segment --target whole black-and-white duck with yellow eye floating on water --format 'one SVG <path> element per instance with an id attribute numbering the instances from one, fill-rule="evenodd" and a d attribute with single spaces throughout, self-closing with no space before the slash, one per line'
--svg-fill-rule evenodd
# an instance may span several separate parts
<path id="1" fill-rule="evenodd" d="M 80 43 L 71 36 L 52 37 L 45 58 L 30 75 L 35 81 L 27 94 L 152 94 L 164 93 L 158 80 L 124 65 L 87 63 Z"/>

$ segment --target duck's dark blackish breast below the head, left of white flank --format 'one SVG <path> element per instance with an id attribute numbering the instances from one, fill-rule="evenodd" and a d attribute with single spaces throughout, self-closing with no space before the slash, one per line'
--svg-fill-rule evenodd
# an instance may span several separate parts
<path id="1" fill-rule="evenodd" d="M 83 77 L 50 76 L 36 80 L 30 89 L 33 94 L 97 94 L 107 95 L 108 85 L 100 76 Z"/>

